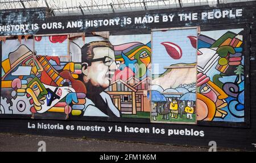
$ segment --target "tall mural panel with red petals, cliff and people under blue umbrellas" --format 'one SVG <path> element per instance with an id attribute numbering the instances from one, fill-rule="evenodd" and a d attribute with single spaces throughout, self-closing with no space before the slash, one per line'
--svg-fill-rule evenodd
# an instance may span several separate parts
<path id="1" fill-rule="evenodd" d="M 197 28 L 152 32 L 151 122 L 196 123 Z"/>

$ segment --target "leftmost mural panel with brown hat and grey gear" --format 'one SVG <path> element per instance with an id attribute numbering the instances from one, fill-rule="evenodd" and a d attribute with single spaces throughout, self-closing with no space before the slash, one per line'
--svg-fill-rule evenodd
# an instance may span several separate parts
<path id="1" fill-rule="evenodd" d="M 2 42 L 1 114 L 31 114 L 31 98 L 26 96 L 27 81 L 23 77 L 36 73 L 35 66 L 24 64 L 33 56 L 32 51 L 33 39 Z"/>

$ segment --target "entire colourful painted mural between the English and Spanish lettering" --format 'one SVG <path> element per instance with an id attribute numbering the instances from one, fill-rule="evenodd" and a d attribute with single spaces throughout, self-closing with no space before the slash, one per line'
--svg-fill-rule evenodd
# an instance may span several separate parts
<path id="1" fill-rule="evenodd" d="M 243 29 L 2 42 L 1 114 L 244 122 Z M 152 54 L 151 54 L 152 41 Z"/>

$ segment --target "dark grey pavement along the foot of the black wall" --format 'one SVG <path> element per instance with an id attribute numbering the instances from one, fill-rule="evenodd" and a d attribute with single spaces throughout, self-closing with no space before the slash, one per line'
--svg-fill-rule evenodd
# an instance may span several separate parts
<path id="1" fill-rule="evenodd" d="M 208 151 L 207 148 L 180 147 L 172 145 L 131 143 L 123 141 L 106 141 L 96 139 L 72 139 L 67 137 L 14 135 L 0 133 L 0 152 L 3 151 L 38 151 L 39 141 L 46 142 L 46 151 L 84 151 L 84 152 L 188 152 Z M 217 149 L 217 151 L 235 151 Z M 237 151 L 237 150 L 236 150 Z"/>

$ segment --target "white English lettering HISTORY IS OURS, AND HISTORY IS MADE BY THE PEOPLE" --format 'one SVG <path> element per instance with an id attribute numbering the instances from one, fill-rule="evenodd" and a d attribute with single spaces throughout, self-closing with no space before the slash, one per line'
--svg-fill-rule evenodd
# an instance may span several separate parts
<path id="1" fill-rule="evenodd" d="M 79 28 L 80 30 L 86 31 L 88 27 L 111 27 L 127 25 L 138 25 L 148 23 L 170 23 L 170 22 L 188 22 L 193 20 L 210 20 L 210 19 L 221 19 L 229 18 L 236 19 L 242 16 L 242 9 L 233 10 L 221 10 L 214 9 L 205 12 L 184 12 L 184 13 L 164 13 L 164 14 L 146 14 L 142 16 L 136 16 L 131 18 L 129 16 L 121 16 L 110 19 L 94 19 L 89 20 L 82 18 L 76 21 L 67 22 L 44 22 L 38 23 L 24 23 L 24 24 L 0 24 L 0 32 L 23 32 L 27 31 L 38 31 L 38 30 L 57 30 L 57 29 L 69 29 Z"/>

